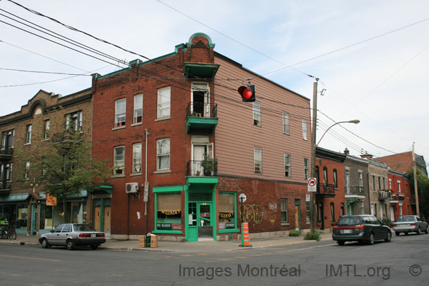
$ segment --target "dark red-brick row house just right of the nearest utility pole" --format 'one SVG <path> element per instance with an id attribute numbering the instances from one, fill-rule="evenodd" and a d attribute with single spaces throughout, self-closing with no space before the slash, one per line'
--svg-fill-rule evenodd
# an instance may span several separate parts
<path id="1" fill-rule="evenodd" d="M 316 148 L 316 221 L 329 229 L 345 215 L 344 161 L 346 155 Z"/>

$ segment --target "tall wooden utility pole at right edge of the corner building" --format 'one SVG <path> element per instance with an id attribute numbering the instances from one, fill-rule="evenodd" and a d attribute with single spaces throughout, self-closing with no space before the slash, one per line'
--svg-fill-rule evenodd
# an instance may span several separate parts
<path id="1" fill-rule="evenodd" d="M 318 78 L 313 82 L 313 119 L 311 121 L 311 178 L 316 178 L 316 120 L 318 116 Z M 316 186 L 319 184 L 316 181 Z M 314 204 L 314 192 L 310 193 L 310 232 L 314 232 L 314 220 L 316 215 L 316 206 Z"/>

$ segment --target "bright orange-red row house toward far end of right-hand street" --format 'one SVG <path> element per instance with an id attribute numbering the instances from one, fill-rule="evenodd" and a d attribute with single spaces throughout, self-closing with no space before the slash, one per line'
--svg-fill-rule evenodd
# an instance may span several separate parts
<path id="1" fill-rule="evenodd" d="M 392 192 L 390 200 L 390 220 L 396 222 L 401 215 L 413 215 L 411 205 L 410 177 L 405 172 L 387 170 L 388 190 Z M 414 208 L 415 209 L 415 208 Z"/>

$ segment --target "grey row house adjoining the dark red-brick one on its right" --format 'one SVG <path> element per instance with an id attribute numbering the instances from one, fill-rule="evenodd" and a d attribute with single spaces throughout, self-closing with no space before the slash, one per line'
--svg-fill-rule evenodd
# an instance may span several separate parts
<path id="1" fill-rule="evenodd" d="M 349 154 L 345 148 L 344 161 L 345 204 L 347 215 L 370 213 L 368 188 L 368 162 Z"/>

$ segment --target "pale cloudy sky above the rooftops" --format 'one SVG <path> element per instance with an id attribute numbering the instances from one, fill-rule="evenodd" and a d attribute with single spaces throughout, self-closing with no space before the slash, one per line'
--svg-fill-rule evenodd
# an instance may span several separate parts
<path id="1" fill-rule="evenodd" d="M 14 1 L 148 58 L 206 33 L 215 51 L 307 98 L 319 78 L 317 140 L 336 122 L 360 120 L 332 127 L 320 147 L 382 157 L 408 152 L 414 142 L 415 152 L 429 162 L 427 0 Z M 65 96 L 91 87 L 91 73 L 145 60 L 9 0 L 0 0 L 0 9 L 0 116 L 19 111 L 40 89 Z M 117 60 L 94 55 L 104 59 L 99 60 L 26 33 L 19 28 L 42 35 L 8 17 Z"/>

